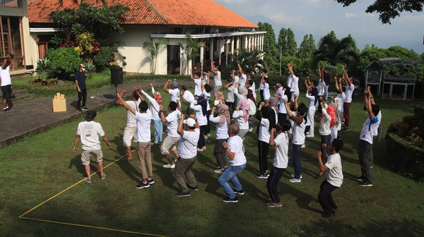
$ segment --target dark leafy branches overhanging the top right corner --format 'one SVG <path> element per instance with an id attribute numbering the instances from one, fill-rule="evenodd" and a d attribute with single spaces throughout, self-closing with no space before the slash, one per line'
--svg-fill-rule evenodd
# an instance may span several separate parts
<path id="1" fill-rule="evenodd" d="M 350 6 L 357 0 L 336 0 L 339 4 Z M 378 13 L 383 24 L 391 23 L 391 19 L 401 16 L 404 11 L 423 11 L 424 0 L 375 0 L 367 7 L 366 13 Z"/>

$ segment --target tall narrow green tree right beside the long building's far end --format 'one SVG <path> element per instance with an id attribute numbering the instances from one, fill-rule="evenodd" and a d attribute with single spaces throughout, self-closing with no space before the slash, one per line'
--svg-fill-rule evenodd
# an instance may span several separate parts
<path id="1" fill-rule="evenodd" d="M 277 63 L 278 51 L 276 49 L 276 34 L 273 31 L 272 25 L 269 23 L 258 23 L 259 30 L 266 31 L 264 36 L 264 63 L 270 73 L 276 73 L 279 63 Z M 279 68 L 278 68 L 279 70 Z"/>

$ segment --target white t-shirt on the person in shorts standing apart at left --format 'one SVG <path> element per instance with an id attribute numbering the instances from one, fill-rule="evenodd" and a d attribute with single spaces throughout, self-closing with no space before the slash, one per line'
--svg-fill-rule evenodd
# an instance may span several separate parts
<path id="1" fill-rule="evenodd" d="M 105 135 L 102 125 L 95 121 L 84 121 L 78 124 L 76 135 L 81 138 L 81 147 L 83 150 L 100 150 L 99 136 Z"/>

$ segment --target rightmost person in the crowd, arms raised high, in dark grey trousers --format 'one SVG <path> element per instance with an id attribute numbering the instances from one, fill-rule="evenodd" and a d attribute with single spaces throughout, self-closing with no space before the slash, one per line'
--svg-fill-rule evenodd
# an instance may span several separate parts
<path id="1" fill-rule="evenodd" d="M 378 119 L 378 115 L 380 114 L 379 106 L 377 104 L 372 104 L 373 97 L 368 90 L 365 90 L 364 92 L 367 119 L 363 124 L 363 129 L 361 130 L 359 137 L 359 164 L 362 174 L 360 177 L 356 178 L 360 181 L 359 185 L 363 187 L 372 186 L 372 143 L 373 137 L 378 134 L 379 124 L 381 123 L 380 119 Z"/>

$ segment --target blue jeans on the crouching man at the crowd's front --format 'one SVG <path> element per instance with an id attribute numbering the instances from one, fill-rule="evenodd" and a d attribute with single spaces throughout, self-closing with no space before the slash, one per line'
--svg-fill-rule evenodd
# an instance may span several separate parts
<path id="1" fill-rule="evenodd" d="M 224 192 L 231 199 L 235 198 L 235 193 L 234 193 L 234 190 L 232 190 L 230 184 L 228 184 L 228 181 L 231 181 L 235 190 L 237 191 L 242 190 L 243 187 L 237 178 L 237 174 L 239 174 L 245 168 L 246 168 L 246 164 L 242 164 L 240 166 L 229 166 L 227 169 L 225 169 L 224 173 L 221 174 L 221 176 L 218 178 L 218 182 L 220 186 L 223 188 Z"/>

